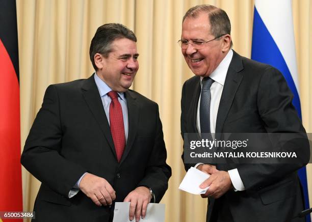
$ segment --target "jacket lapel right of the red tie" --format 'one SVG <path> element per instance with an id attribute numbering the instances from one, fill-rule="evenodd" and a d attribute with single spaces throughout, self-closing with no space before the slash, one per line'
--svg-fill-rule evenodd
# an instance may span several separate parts
<path id="1" fill-rule="evenodd" d="M 120 163 L 124 161 L 124 159 L 127 157 L 129 151 L 132 148 L 132 145 L 134 143 L 137 134 L 139 120 L 139 108 L 136 101 L 136 95 L 133 92 L 127 90 L 125 92 L 125 97 L 127 100 L 127 108 L 128 108 L 128 139 Z"/>

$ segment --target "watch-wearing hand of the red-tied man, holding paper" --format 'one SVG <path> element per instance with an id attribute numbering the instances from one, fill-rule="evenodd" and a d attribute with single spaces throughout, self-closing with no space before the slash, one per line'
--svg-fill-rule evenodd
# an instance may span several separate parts
<path id="1" fill-rule="evenodd" d="M 147 204 L 151 200 L 149 189 L 145 186 L 139 186 L 131 191 L 123 202 L 131 202 L 129 209 L 129 219 L 133 220 L 134 216 L 136 221 L 140 221 L 140 216 L 145 217 Z"/>

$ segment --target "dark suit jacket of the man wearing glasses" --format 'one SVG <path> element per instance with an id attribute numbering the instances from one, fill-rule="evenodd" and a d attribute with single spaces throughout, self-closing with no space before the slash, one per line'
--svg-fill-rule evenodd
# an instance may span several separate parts
<path id="1" fill-rule="evenodd" d="M 181 134 L 198 133 L 196 112 L 200 77 L 188 79 L 181 98 Z M 301 132 L 305 134 L 292 105 L 293 95 L 282 74 L 275 68 L 239 56 L 233 51 L 218 109 L 216 132 L 266 133 Z M 309 156 L 308 147 L 298 147 Z M 218 170 L 238 169 L 245 191 L 229 190 L 223 199 L 235 221 L 291 220 L 303 210 L 297 170 L 301 164 L 217 164 Z M 185 164 L 188 170 L 192 164 Z M 210 199 L 209 221 L 214 206 Z"/>

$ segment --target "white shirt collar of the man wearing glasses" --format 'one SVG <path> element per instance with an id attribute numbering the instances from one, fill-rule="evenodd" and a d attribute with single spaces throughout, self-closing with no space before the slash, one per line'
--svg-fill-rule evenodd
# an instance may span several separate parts
<path id="1" fill-rule="evenodd" d="M 219 66 L 213 71 L 209 77 L 211 77 L 213 80 L 224 86 L 226 73 L 229 67 L 229 64 L 231 63 L 233 57 L 233 50 L 230 49 L 224 59 L 221 61 Z M 200 80 L 202 80 L 203 77 L 200 77 Z"/>

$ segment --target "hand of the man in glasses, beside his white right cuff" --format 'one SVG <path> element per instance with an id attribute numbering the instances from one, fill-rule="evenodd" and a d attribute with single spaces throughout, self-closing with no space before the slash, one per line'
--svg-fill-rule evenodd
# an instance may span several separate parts
<path id="1" fill-rule="evenodd" d="M 224 195 L 227 190 L 232 187 L 232 182 L 227 171 L 218 171 L 213 173 L 208 179 L 206 179 L 200 188 L 208 187 L 206 193 L 201 195 L 202 198 L 213 197 L 215 199 Z"/>

